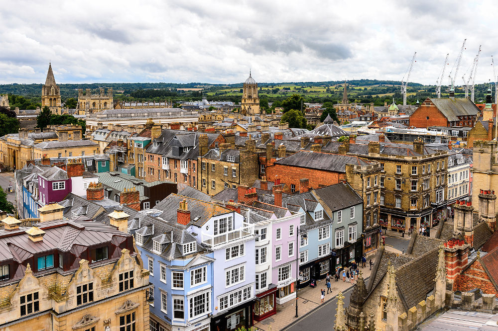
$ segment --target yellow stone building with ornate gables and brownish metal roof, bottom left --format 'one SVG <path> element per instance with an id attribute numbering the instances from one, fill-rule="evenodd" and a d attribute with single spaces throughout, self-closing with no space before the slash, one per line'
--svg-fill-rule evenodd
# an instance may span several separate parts
<path id="1" fill-rule="evenodd" d="M 1 220 L 2 330 L 149 330 L 148 271 L 132 236 L 116 229 L 127 218 L 112 216 L 127 214 L 110 214 L 115 227 L 60 220 L 62 210 L 40 208 L 33 226 Z"/>

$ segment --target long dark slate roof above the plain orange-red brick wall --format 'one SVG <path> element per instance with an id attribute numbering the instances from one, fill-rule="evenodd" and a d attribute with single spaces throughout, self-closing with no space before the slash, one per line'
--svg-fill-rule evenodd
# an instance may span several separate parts
<path id="1" fill-rule="evenodd" d="M 346 172 L 346 165 L 368 165 L 358 157 L 301 151 L 275 162 L 278 165 L 293 165 L 327 171 Z"/>

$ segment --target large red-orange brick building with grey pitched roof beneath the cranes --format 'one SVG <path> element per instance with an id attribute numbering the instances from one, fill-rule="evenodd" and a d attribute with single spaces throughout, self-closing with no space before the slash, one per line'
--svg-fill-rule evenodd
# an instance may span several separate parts
<path id="1" fill-rule="evenodd" d="M 411 114 L 410 126 L 417 128 L 429 126 L 473 127 L 478 112 L 479 108 L 467 98 L 427 98 Z"/>

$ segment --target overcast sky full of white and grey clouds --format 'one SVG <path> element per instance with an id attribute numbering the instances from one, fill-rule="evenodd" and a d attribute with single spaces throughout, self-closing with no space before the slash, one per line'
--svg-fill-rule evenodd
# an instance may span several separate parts
<path id="1" fill-rule="evenodd" d="M 0 0 L 0 83 L 401 80 L 476 83 L 498 65 L 498 1 Z M 497 68 L 498 70 L 498 68 Z"/>

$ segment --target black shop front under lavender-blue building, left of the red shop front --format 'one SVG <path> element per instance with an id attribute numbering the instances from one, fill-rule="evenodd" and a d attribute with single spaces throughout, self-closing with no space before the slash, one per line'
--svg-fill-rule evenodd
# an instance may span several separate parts
<path id="1" fill-rule="evenodd" d="M 249 329 L 252 322 L 253 301 L 229 309 L 211 317 L 211 331 L 231 331 L 245 327 Z"/>

